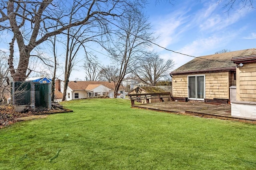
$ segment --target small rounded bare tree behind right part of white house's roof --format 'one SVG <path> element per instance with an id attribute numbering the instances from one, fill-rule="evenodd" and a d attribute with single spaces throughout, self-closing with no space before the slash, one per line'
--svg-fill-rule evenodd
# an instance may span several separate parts
<path id="1" fill-rule="evenodd" d="M 102 66 L 99 79 L 102 81 L 117 82 L 119 69 L 116 66 Z"/>

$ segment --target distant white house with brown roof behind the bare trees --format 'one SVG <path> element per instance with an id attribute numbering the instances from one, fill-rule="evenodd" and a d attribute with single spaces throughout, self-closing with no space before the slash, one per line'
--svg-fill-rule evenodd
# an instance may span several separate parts
<path id="1" fill-rule="evenodd" d="M 64 82 L 55 82 L 56 90 L 64 92 Z M 106 96 L 114 98 L 114 82 L 98 81 L 70 81 L 66 92 L 66 100 L 90 98 L 94 96 Z M 117 98 L 125 98 L 125 89 L 120 86 Z"/>

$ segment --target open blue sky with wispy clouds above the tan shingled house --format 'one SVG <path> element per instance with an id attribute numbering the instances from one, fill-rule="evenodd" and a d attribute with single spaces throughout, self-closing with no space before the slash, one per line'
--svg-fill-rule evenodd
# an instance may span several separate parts
<path id="1" fill-rule="evenodd" d="M 211 55 L 228 49 L 237 51 L 256 48 L 256 10 L 236 5 L 223 8 L 217 0 L 181 0 L 153 2 L 145 12 L 149 15 L 152 29 L 159 35 L 156 43 L 167 49 L 195 57 Z M 173 59 L 174 69 L 182 66 L 192 57 L 153 47 L 160 57 Z"/>

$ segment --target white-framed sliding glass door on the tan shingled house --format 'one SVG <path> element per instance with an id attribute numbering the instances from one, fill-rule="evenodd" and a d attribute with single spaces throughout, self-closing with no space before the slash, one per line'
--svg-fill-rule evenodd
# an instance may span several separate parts
<path id="1" fill-rule="evenodd" d="M 203 100 L 205 98 L 205 76 L 188 76 L 188 98 Z"/>

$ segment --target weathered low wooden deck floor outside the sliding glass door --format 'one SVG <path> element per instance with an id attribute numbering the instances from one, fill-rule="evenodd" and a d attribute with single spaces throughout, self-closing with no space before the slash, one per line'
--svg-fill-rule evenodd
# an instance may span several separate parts
<path id="1" fill-rule="evenodd" d="M 256 120 L 243 119 L 231 116 L 230 104 L 208 104 L 204 102 L 157 102 L 150 104 L 136 104 L 133 108 L 150 109 L 155 111 L 175 113 L 182 115 L 193 115 L 206 118 L 218 118 L 230 121 L 256 124 Z"/>

